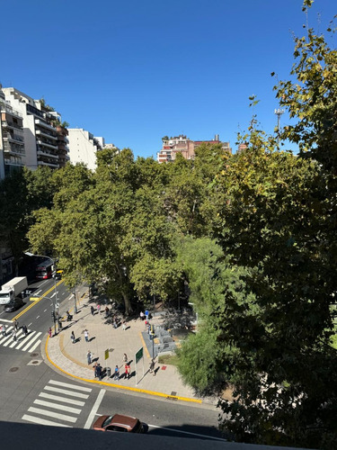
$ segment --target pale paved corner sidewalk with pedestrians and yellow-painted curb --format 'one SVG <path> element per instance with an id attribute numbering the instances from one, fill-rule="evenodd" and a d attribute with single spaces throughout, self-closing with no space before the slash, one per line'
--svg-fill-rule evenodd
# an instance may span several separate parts
<path id="1" fill-rule="evenodd" d="M 92 300 L 89 302 L 88 289 L 83 288 L 80 291 L 80 301 L 77 303 L 78 313 L 74 314 L 74 311 L 69 310 L 73 314 L 73 321 L 63 321 L 63 329 L 58 335 L 47 338 L 45 352 L 51 365 L 70 376 L 87 383 L 98 383 L 104 387 L 142 392 L 171 400 L 217 403 L 217 399 L 214 398 L 197 397 L 190 387 L 182 383 L 182 378 L 173 365 L 158 365 L 156 362 L 155 375 L 149 373 L 151 359 L 142 336 L 142 332 L 145 331 L 144 321 L 129 320 L 126 330 L 123 330 L 121 326 L 114 329 L 112 325 L 104 324 L 103 312 L 96 311 L 92 315 L 91 305 L 95 307 L 96 303 Z M 88 343 L 84 338 L 85 329 L 89 332 Z M 75 334 L 75 344 L 71 341 L 72 331 Z M 141 347 L 144 348 L 144 357 L 136 367 L 135 355 Z M 94 378 L 93 363 L 87 364 L 88 350 L 93 354 L 93 362 L 99 362 L 103 368 L 111 368 L 111 377 L 104 375 L 101 382 Z M 106 350 L 109 350 L 108 359 L 104 358 Z M 124 353 L 127 354 L 131 367 L 129 380 L 124 377 Z M 118 381 L 113 379 L 116 365 L 120 367 L 120 375 L 122 375 Z"/>

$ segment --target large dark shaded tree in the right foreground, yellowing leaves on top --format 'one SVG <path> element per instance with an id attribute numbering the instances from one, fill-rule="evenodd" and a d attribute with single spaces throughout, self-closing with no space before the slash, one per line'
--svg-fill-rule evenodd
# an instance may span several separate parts
<path id="1" fill-rule="evenodd" d="M 303 40 L 299 42 L 302 45 Z M 317 55 L 310 34 L 309 42 Z M 299 81 L 306 80 L 310 92 L 300 97 L 303 110 L 314 94 L 316 104 L 325 102 L 315 91 L 316 73 L 306 50 L 297 42 L 295 57 L 301 63 L 295 73 Z M 333 55 L 337 62 L 334 51 L 326 58 Z M 281 96 L 287 98 L 287 89 L 291 84 L 285 88 L 281 83 Z M 326 90 L 320 95 L 325 97 Z M 295 111 L 296 100 L 292 105 Z M 310 128 L 315 123 L 309 115 L 303 122 L 300 114 L 298 127 L 285 132 L 294 140 L 297 136 L 298 142 L 304 139 L 311 148 Z M 317 147 L 322 138 L 325 151 L 330 148 L 333 153 L 331 122 L 326 122 L 326 134 L 323 125 L 315 129 L 320 134 Z M 275 139 L 254 128 L 247 140 L 248 148 L 229 162 L 217 185 L 222 220 L 221 227 L 217 222 L 218 241 L 232 263 L 250 268 L 244 282 L 257 306 L 253 315 L 245 317 L 226 293 L 225 307 L 217 309 L 223 345 L 238 349 L 227 372 L 235 380 L 236 399 L 222 402 L 229 414 L 223 426 L 240 441 L 333 448 L 337 356 L 331 346 L 331 305 L 337 282 L 335 202 L 330 195 L 334 169 L 327 170 L 321 161 L 317 164 L 316 148 L 308 158 L 273 151 Z"/>

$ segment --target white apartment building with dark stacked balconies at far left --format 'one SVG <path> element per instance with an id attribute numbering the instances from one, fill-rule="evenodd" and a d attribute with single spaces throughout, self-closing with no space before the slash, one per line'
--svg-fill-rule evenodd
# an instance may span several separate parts
<path id="1" fill-rule="evenodd" d="M 5 102 L 22 116 L 25 156 L 22 165 L 32 170 L 38 166 L 64 166 L 69 157 L 67 133 L 60 126 L 60 114 L 43 100 L 34 100 L 14 87 L 3 87 L 2 92 Z"/>

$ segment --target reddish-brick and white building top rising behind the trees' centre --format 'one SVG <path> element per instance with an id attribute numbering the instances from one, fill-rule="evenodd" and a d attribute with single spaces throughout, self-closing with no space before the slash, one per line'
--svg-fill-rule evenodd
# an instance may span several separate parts
<path id="1" fill-rule="evenodd" d="M 224 150 L 232 152 L 229 142 L 221 142 L 218 134 L 212 140 L 191 140 L 181 134 L 174 138 L 163 139 L 163 147 L 157 152 L 157 161 L 159 163 L 174 161 L 178 153 L 185 159 L 193 159 L 195 157 L 195 148 L 201 144 L 221 144 Z"/>

